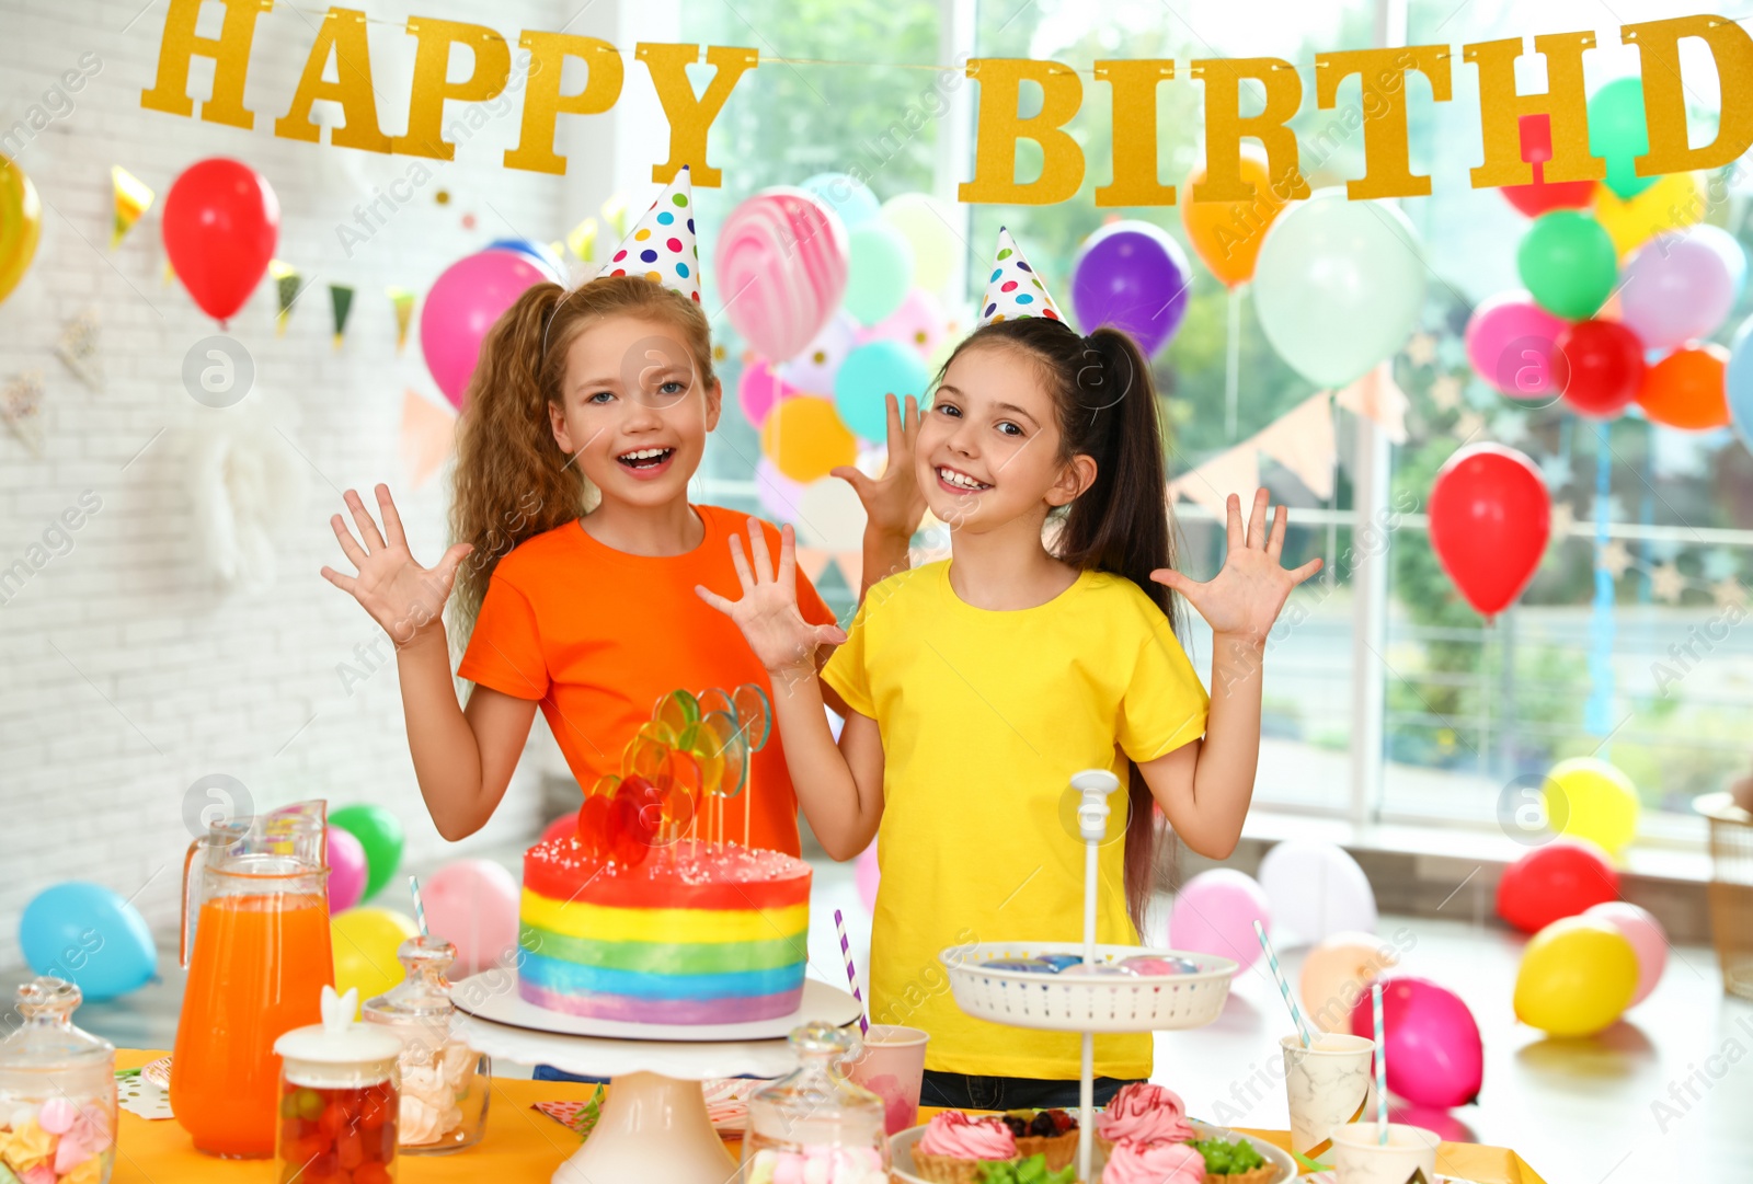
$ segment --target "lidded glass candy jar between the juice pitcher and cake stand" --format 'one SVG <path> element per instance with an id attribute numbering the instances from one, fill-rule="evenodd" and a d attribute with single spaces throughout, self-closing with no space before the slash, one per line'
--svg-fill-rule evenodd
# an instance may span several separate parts
<path id="1" fill-rule="evenodd" d="M 456 962 L 456 946 L 442 937 L 410 937 L 396 958 L 401 984 L 370 1000 L 365 1018 L 401 1040 L 401 1151 L 470 1147 L 487 1126 L 491 1061 L 451 1035 L 456 1005 L 445 972 Z"/>

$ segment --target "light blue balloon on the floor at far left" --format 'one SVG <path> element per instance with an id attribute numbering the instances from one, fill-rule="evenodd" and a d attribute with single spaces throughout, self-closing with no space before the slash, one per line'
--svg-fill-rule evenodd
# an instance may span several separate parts
<path id="1" fill-rule="evenodd" d="M 19 918 L 18 944 L 32 970 L 77 984 L 88 1000 L 126 995 L 158 969 L 140 911 L 82 879 L 39 892 Z"/>

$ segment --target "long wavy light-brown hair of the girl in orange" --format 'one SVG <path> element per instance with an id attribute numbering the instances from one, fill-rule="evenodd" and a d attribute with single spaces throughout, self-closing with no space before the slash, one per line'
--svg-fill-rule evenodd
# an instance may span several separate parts
<path id="1" fill-rule="evenodd" d="M 549 405 L 561 403 L 573 340 L 610 315 L 673 324 L 689 343 L 699 382 L 715 382 L 706 314 L 645 277 L 601 277 L 570 292 L 536 284 L 505 310 L 480 345 L 458 422 L 451 541 L 475 546 L 458 571 L 451 603 L 458 646 L 468 641 L 498 562 L 524 539 L 596 506 L 596 489 L 554 441 Z"/>

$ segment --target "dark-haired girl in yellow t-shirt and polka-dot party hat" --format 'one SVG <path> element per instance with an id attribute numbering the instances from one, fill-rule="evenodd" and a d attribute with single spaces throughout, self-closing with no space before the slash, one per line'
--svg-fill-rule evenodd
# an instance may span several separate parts
<path id="1" fill-rule="evenodd" d="M 1138 942 L 1153 807 L 1194 851 L 1231 853 L 1260 750 L 1266 636 L 1320 569 L 1280 564 L 1285 513 L 1267 531 L 1262 489 L 1246 531 L 1229 499 L 1229 553 L 1210 583 L 1175 571 L 1148 361 L 1124 333 L 1066 326 L 1008 235 L 999 259 L 987 322 L 940 375 L 913 450 L 952 557 L 871 587 L 850 634 L 798 611 L 789 527 L 777 571 L 759 529 L 749 557 L 731 539 L 740 599 L 699 588 L 771 674 L 817 839 L 847 860 L 876 837 L 871 1018 L 931 1033 L 926 1105 L 975 1109 L 1076 1105 L 1078 1037 L 962 1014 L 940 951 L 1082 939 L 1078 769 L 1127 785 L 1124 842 L 1101 851 L 1097 941 Z M 1027 308 L 999 291 L 1018 289 L 1018 264 Z M 1176 594 L 1211 625 L 1215 699 L 1176 641 Z M 817 648 L 833 645 L 817 674 Z M 838 746 L 824 683 L 850 709 Z M 1148 1033 L 1097 1037 L 1097 1102 L 1150 1068 Z"/>

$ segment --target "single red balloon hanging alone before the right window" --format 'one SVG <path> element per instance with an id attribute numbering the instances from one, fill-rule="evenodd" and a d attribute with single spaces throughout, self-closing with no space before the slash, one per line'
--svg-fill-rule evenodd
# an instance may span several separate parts
<path id="1" fill-rule="evenodd" d="M 1430 546 L 1443 571 L 1483 617 L 1522 596 L 1546 553 L 1551 497 L 1534 462 L 1515 448 L 1469 445 L 1430 485 Z"/>

